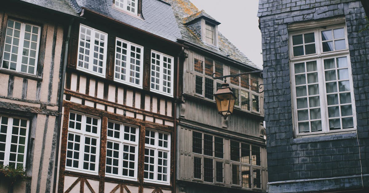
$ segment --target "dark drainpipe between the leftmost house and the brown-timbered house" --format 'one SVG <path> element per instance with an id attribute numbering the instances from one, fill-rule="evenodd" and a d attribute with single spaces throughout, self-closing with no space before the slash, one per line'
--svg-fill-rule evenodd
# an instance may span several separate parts
<path id="1" fill-rule="evenodd" d="M 64 98 L 64 83 L 65 83 L 65 69 L 67 66 L 68 59 L 68 46 L 69 46 L 69 38 L 70 38 L 70 30 L 72 28 L 74 18 L 72 18 L 69 22 L 68 35 L 65 40 L 65 51 L 64 51 L 64 61 L 63 61 L 63 72 L 62 79 L 60 82 L 60 90 L 59 90 L 59 121 L 58 121 L 58 136 L 56 137 L 56 153 L 55 153 L 55 166 L 54 166 L 54 183 L 52 192 L 56 191 L 56 173 L 58 172 L 58 161 L 59 161 L 59 143 L 60 143 L 60 132 L 61 132 L 61 122 L 62 122 L 62 110 L 63 110 L 63 98 Z"/>

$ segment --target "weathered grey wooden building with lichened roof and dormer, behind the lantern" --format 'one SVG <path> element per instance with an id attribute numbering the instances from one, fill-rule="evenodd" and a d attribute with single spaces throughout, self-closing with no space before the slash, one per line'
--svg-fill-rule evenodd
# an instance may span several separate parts
<path id="1" fill-rule="evenodd" d="M 259 68 L 218 31 L 220 22 L 189 0 L 167 0 L 186 47 L 179 69 L 176 192 L 265 192 L 268 181 L 260 74 L 227 78 L 237 96 L 225 121 L 213 94 L 216 77 Z"/>

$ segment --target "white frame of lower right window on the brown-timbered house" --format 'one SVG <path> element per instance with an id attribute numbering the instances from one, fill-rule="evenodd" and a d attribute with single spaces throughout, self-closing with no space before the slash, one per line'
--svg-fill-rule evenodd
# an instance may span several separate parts
<path id="1" fill-rule="evenodd" d="M 171 135 L 168 132 L 163 132 L 163 131 L 159 131 L 159 130 L 155 130 L 155 129 L 146 129 L 146 131 L 155 132 L 154 145 L 149 145 L 147 143 L 144 143 L 144 151 L 145 151 L 145 149 L 151 149 L 151 150 L 154 150 L 154 153 L 155 153 L 155 155 L 154 155 L 154 179 L 146 179 L 143 176 L 143 180 L 144 180 L 144 182 L 149 182 L 149 183 L 170 185 L 170 170 L 171 170 L 171 161 L 170 161 L 171 146 L 170 146 L 170 143 L 171 143 Z M 159 133 L 163 133 L 163 134 L 168 135 L 168 148 L 164 148 L 164 147 L 159 146 Z M 146 133 L 145 133 L 145 139 L 146 139 Z M 159 159 L 158 150 L 160 150 L 162 152 L 166 152 L 168 154 L 168 158 L 167 158 L 167 160 L 168 160 L 168 163 L 167 163 L 167 181 L 166 182 L 164 182 L 162 180 L 161 181 L 157 180 L 157 178 L 158 178 L 158 159 Z M 143 153 L 144 153 L 144 157 L 145 157 L 145 152 L 143 152 Z M 143 166 L 145 167 L 145 160 L 143 160 L 143 163 L 144 163 Z"/>

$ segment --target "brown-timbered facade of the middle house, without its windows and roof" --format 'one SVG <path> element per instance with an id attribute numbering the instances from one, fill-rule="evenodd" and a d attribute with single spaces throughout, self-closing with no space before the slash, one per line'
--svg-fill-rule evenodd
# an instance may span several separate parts
<path id="1" fill-rule="evenodd" d="M 58 192 L 164 192 L 173 190 L 175 157 L 175 93 L 166 96 L 150 90 L 151 51 L 155 50 L 173 57 L 173 81 L 176 85 L 177 56 L 182 47 L 179 44 L 154 37 L 137 29 L 122 25 L 104 16 L 85 10 L 86 20 L 73 24 L 68 53 L 68 68 L 63 102 L 63 126 L 61 138 L 60 170 Z M 108 34 L 106 76 L 99 77 L 78 70 L 78 40 L 80 24 Z M 114 81 L 114 55 L 116 38 L 124 39 L 144 48 L 142 62 L 142 88 Z M 91 115 L 101 120 L 98 172 L 88 174 L 66 168 L 68 125 L 70 112 Z M 137 179 L 122 179 L 106 175 L 107 127 L 108 122 L 120 122 L 138 128 Z M 169 136 L 168 184 L 144 180 L 145 132 L 159 131 Z M 122 131 L 123 132 L 123 131 Z"/>

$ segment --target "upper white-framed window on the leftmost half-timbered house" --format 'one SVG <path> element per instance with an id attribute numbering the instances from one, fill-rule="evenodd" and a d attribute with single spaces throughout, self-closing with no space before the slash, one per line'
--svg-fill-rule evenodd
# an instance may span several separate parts
<path id="1" fill-rule="evenodd" d="M 41 27 L 9 18 L 1 68 L 35 75 Z"/>

